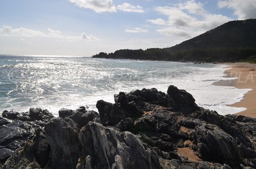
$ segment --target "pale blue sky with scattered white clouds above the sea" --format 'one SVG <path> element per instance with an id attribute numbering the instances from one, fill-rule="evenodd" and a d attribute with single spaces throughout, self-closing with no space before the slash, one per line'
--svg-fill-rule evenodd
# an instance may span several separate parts
<path id="1" fill-rule="evenodd" d="M 165 48 L 250 18 L 256 0 L 0 0 L 0 54 Z"/>

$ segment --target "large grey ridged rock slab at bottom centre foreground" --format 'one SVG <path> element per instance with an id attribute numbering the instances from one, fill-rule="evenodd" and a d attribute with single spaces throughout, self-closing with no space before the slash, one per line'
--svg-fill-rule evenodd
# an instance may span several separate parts
<path id="1" fill-rule="evenodd" d="M 83 159 L 93 157 L 90 166 L 100 169 L 160 169 L 158 155 L 143 146 L 130 132 L 118 132 L 99 123 L 89 122 L 81 129 L 79 142 Z M 84 160 L 87 162 L 87 160 Z M 86 162 L 81 166 L 86 166 Z M 81 168 L 79 168 L 81 169 Z"/>

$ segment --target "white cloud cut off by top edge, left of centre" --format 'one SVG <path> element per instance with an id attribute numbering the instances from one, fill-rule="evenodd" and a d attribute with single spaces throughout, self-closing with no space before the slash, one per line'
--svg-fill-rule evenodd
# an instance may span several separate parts
<path id="1" fill-rule="evenodd" d="M 80 8 L 93 9 L 97 13 L 116 12 L 112 0 L 69 0 Z"/>

